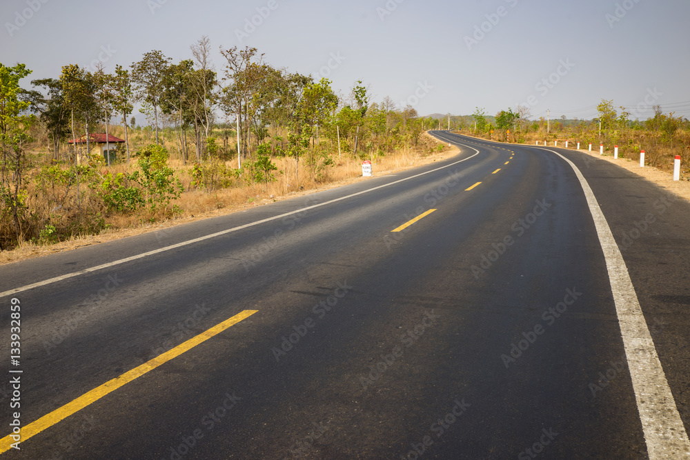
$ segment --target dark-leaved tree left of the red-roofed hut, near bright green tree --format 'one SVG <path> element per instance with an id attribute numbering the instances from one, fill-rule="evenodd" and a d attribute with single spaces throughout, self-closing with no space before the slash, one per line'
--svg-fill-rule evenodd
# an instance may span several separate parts
<path id="1" fill-rule="evenodd" d="M 53 159 L 59 160 L 60 141 L 70 132 L 69 110 L 63 97 L 62 85 L 56 79 L 39 79 L 31 81 L 32 86 L 43 88 L 47 95 L 32 91 L 31 110 L 39 114 L 39 119 L 50 133 L 53 145 Z"/>

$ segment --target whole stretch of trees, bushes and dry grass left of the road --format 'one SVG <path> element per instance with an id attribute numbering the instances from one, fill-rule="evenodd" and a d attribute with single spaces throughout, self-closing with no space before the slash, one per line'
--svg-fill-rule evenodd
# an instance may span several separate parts
<path id="1" fill-rule="evenodd" d="M 255 48 L 221 51 L 219 71 L 202 37 L 179 63 L 153 50 L 30 86 L 26 66 L 0 63 L 0 250 L 252 205 L 444 148 L 424 134 L 437 121 L 359 81 L 335 94 Z M 95 133 L 125 142 L 104 155 Z"/>

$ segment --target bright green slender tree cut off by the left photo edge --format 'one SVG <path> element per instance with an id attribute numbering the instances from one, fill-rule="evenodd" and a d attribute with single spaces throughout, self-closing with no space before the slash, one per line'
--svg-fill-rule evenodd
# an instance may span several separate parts
<path id="1" fill-rule="evenodd" d="M 10 217 L 14 223 L 14 239 L 22 237 L 21 215 L 26 210 L 23 171 L 26 157 L 23 145 L 29 140 L 27 117 L 22 113 L 29 103 L 19 98 L 19 80 L 31 73 L 24 64 L 14 67 L 0 63 L 0 237 Z M 0 240 L 0 250 L 3 249 Z"/>

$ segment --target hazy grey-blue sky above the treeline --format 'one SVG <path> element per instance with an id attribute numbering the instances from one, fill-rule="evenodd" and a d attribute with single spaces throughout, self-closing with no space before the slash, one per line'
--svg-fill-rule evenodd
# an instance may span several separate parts
<path id="1" fill-rule="evenodd" d="M 219 74 L 219 46 L 315 77 L 331 60 L 337 91 L 361 79 L 374 101 L 420 114 L 529 102 L 533 118 L 591 119 L 603 98 L 639 106 L 633 119 L 655 103 L 690 118 L 687 0 L 2 0 L 0 19 L 0 62 L 26 63 L 25 87 L 99 57 L 110 71 L 154 49 L 188 59 L 207 35 Z"/>

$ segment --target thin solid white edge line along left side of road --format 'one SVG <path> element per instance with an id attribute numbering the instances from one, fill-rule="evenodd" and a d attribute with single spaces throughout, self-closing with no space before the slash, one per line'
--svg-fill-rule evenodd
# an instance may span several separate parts
<path id="1" fill-rule="evenodd" d="M 468 147 L 469 147 L 469 146 L 468 146 Z M 70 278 L 78 277 L 78 276 L 81 275 L 81 274 L 86 274 L 86 273 L 91 273 L 91 272 L 97 272 L 98 270 L 103 270 L 104 268 L 110 268 L 110 267 L 113 267 L 113 266 L 117 266 L 117 265 L 120 265 L 121 263 L 126 263 L 126 262 L 130 262 L 130 261 L 135 261 L 135 260 L 137 260 L 137 259 L 143 259 L 144 257 L 152 256 L 152 255 L 154 255 L 154 254 L 160 254 L 161 252 L 166 252 L 166 251 L 169 251 L 169 250 L 172 250 L 172 249 L 177 249 L 177 248 L 182 248 L 182 247 L 184 247 L 184 246 L 189 246 L 190 244 L 199 243 L 199 241 L 204 241 L 204 240 L 207 240 L 207 239 L 211 239 L 211 238 L 215 238 L 215 237 L 220 237 L 220 236 L 222 236 L 222 235 L 224 235 L 224 234 L 228 234 L 228 233 L 232 233 L 232 232 L 237 232 L 238 230 L 243 230 L 243 229 L 245 229 L 245 228 L 249 228 L 249 227 L 253 227 L 253 226 L 258 226 L 258 225 L 260 225 L 260 224 L 262 224 L 262 223 L 266 223 L 266 222 L 270 222 L 270 221 L 275 221 L 275 220 L 277 220 L 277 219 L 283 219 L 284 217 L 288 217 L 288 216 L 291 216 L 291 215 L 293 215 L 293 214 L 297 214 L 298 212 L 304 212 L 304 211 L 308 211 L 308 210 L 311 210 L 311 209 L 320 208 L 321 206 L 326 206 L 326 205 L 328 205 L 328 204 L 336 203 L 337 201 L 342 201 L 342 200 L 344 200 L 344 199 L 348 199 L 348 198 L 352 198 L 352 197 L 357 197 L 358 195 L 365 194 L 365 193 L 368 193 L 368 192 L 373 192 L 374 190 L 379 190 L 380 188 L 385 188 L 385 187 L 393 186 L 393 185 L 395 185 L 396 183 L 401 183 L 401 182 L 404 182 L 404 181 L 409 181 L 409 180 L 411 180 L 411 179 L 415 179 L 415 178 L 417 178 L 417 177 L 424 176 L 425 174 L 431 174 L 432 172 L 440 171 L 440 170 L 445 169 L 445 168 L 450 168 L 451 166 L 455 166 L 455 165 L 457 165 L 457 164 L 459 164 L 459 163 L 462 163 L 463 161 L 467 161 L 467 160 L 469 160 L 469 159 L 471 159 L 471 158 L 474 158 L 474 157 L 476 157 L 476 156 L 479 154 L 479 150 L 477 150 L 477 149 L 475 149 L 475 148 L 472 148 L 472 147 L 469 147 L 469 148 L 471 148 L 472 150 L 474 150 L 474 151 L 477 152 L 477 153 L 473 154 L 471 157 L 467 157 L 467 158 L 462 159 L 462 160 L 460 160 L 460 161 L 455 161 L 455 163 L 451 163 L 451 164 L 446 165 L 446 166 L 441 166 L 440 168 L 436 168 L 436 169 L 429 170 L 429 171 L 426 171 L 426 172 L 421 172 L 420 174 L 415 174 L 414 176 L 406 177 L 405 179 L 399 179 L 399 180 L 397 180 L 397 181 L 393 181 L 393 182 L 390 182 L 390 183 L 384 183 L 384 185 L 382 185 L 382 186 L 377 186 L 377 187 L 374 187 L 374 188 L 369 188 L 369 189 L 367 189 L 367 190 L 362 190 L 362 192 L 353 193 L 353 194 L 347 195 L 346 197 L 340 197 L 340 198 L 332 199 L 331 201 L 325 201 L 324 203 L 318 203 L 318 204 L 315 204 L 315 205 L 313 205 L 313 206 L 307 206 L 306 208 L 302 208 L 302 209 L 298 209 L 298 210 L 295 210 L 295 211 L 286 212 L 285 214 L 280 214 L 279 216 L 268 217 L 268 219 L 262 219 L 262 220 L 260 220 L 260 221 L 255 221 L 255 222 L 247 223 L 247 224 L 245 224 L 244 226 L 239 226 L 239 227 L 235 227 L 235 228 L 229 228 L 228 230 L 223 230 L 223 231 L 221 231 L 221 232 L 217 232 L 217 233 L 213 233 L 213 234 L 208 234 L 208 235 L 206 235 L 205 237 L 199 237 L 199 238 L 195 238 L 195 239 L 190 239 L 190 240 L 188 240 L 188 241 L 182 241 L 181 243 L 173 244 L 172 246 L 166 246 L 165 248 L 160 248 L 160 249 L 157 249 L 157 250 L 152 250 L 152 251 L 148 251 L 148 252 L 143 252 L 143 253 L 141 253 L 141 254 L 137 254 L 137 255 L 132 256 L 132 257 L 127 257 L 126 259 L 119 259 L 119 260 L 117 260 L 117 261 L 112 261 L 112 262 L 108 262 L 108 263 L 103 263 L 103 264 L 101 264 L 101 265 L 99 265 L 99 266 L 95 266 L 95 267 L 91 267 L 91 268 L 85 268 L 84 270 L 79 270 L 79 272 L 73 272 L 73 273 L 63 274 L 63 275 L 61 275 L 61 276 L 59 276 L 59 277 L 46 279 L 46 280 L 44 280 L 44 281 L 39 281 L 39 282 L 37 282 L 37 283 L 28 284 L 28 285 L 26 285 L 26 286 L 21 286 L 21 288 L 14 288 L 14 289 L 6 290 L 6 291 L 3 291 L 3 292 L 0 292 L 0 298 L 6 297 L 6 296 L 8 296 L 8 295 L 17 294 L 18 292 L 24 292 L 24 291 L 27 291 L 27 290 L 30 290 L 30 289 L 39 288 L 39 287 L 41 287 L 41 286 L 47 286 L 48 284 L 57 283 L 58 281 L 63 281 L 63 280 L 65 280 L 65 279 L 70 279 Z"/>

